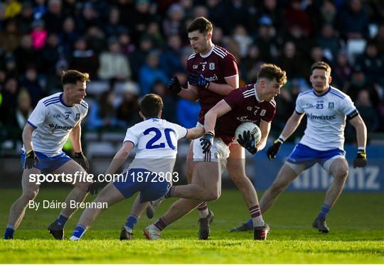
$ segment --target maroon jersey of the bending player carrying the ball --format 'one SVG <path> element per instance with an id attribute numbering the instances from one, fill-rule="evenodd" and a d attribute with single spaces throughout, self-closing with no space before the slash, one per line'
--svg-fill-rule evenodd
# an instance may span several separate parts
<path id="1" fill-rule="evenodd" d="M 225 144 L 229 145 L 235 140 L 236 128 L 243 122 L 256 123 L 260 119 L 267 122 L 272 121 L 276 113 L 276 102 L 274 99 L 270 102 L 259 102 L 256 98 L 255 86 L 240 87 L 224 98 L 232 110 L 218 118 L 215 135 L 223 139 Z"/>

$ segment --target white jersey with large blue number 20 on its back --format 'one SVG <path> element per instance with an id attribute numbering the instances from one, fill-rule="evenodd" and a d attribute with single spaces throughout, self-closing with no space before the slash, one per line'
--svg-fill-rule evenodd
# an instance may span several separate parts
<path id="1" fill-rule="evenodd" d="M 151 118 L 127 129 L 124 142 L 137 146 L 137 153 L 129 168 L 145 168 L 153 172 L 172 172 L 177 154 L 177 141 L 187 129 L 165 119 Z"/>

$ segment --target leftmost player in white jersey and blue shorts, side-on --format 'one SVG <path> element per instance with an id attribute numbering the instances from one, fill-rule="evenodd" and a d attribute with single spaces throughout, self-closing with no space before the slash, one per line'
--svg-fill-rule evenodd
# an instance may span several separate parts
<path id="1" fill-rule="evenodd" d="M 13 239 L 14 231 L 23 220 L 30 200 L 38 194 L 40 184 L 30 181 L 31 174 L 40 173 L 82 173 L 88 170 L 87 158 L 81 148 L 81 121 L 87 115 L 88 104 L 83 99 L 86 95 L 87 73 L 68 70 L 62 77 L 63 92 L 41 99 L 33 110 L 23 129 L 23 149 L 21 166 L 23 175 L 21 186 L 23 193 L 11 206 L 4 239 Z M 75 150 L 75 160 L 67 156 L 62 148 L 70 137 Z M 79 165 L 80 163 L 80 165 Z M 85 179 L 83 179 L 85 180 Z M 82 202 L 87 196 L 90 183 L 78 181 L 68 194 L 65 202 Z M 64 226 L 75 208 L 65 207 L 48 230 L 55 239 L 63 239 Z"/>

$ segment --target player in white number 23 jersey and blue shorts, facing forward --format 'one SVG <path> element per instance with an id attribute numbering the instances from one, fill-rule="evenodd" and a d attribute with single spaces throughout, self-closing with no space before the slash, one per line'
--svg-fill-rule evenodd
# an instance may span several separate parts
<path id="1" fill-rule="evenodd" d="M 303 171 L 315 163 L 319 163 L 328 173 L 334 176 L 334 181 L 326 191 L 324 204 L 312 227 L 320 232 L 328 233 L 326 215 L 334 206 L 343 190 L 348 176 L 348 163 L 345 158 L 344 127 L 346 119 L 356 128 L 358 151 L 353 167 L 362 168 L 367 165 L 366 159 L 366 124 L 351 98 L 340 90 L 331 87 L 331 67 L 324 62 L 311 66 L 310 81 L 313 89 L 299 94 L 296 109 L 284 126 L 282 134 L 267 150 L 270 159 L 276 157 L 280 146 L 299 126 L 306 114 L 307 124 L 302 140 L 295 146 L 277 174 L 271 187 L 262 195 L 260 208 L 265 213 L 292 181 Z M 245 231 L 247 225 L 236 227 L 233 231 Z"/>

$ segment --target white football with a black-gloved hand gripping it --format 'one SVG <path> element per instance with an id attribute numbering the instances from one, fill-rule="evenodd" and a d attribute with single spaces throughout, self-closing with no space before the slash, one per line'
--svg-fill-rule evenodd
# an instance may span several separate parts
<path id="1" fill-rule="evenodd" d="M 257 152 L 256 145 L 261 140 L 261 131 L 259 127 L 252 122 L 245 122 L 238 126 L 235 131 L 235 137 L 240 146 L 247 149 L 252 154 Z"/>

